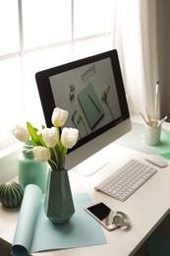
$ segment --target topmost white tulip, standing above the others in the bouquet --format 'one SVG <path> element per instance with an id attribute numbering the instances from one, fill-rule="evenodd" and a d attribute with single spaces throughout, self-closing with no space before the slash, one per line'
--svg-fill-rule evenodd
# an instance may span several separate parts
<path id="1" fill-rule="evenodd" d="M 51 121 L 55 127 L 61 127 L 66 122 L 69 112 L 59 107 L 55 107 L 52 113 Z"/>

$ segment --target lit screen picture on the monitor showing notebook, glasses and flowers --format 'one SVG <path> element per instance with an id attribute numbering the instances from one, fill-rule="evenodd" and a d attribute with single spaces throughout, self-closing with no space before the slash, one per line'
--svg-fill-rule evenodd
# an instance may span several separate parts
<path id="1" fill-rule="evenodd" d="M 49 78 L 55 105 L 69 111 L 67 127 L 80 139 L 121 116 L 110 58 Z"/>

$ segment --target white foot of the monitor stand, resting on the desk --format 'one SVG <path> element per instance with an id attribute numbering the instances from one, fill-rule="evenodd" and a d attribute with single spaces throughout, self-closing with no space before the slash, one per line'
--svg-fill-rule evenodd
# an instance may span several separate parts
<path id="1" fill-rule="evenodd" d="M 73 167 L 72 170 L 83 176 L 90 176 L 105 165 L 107 165 L 109 161 L 110 160 L 108 160 L 106 156 L 104 156 L 103 158 L 103 152 L 99 151 Z"/>

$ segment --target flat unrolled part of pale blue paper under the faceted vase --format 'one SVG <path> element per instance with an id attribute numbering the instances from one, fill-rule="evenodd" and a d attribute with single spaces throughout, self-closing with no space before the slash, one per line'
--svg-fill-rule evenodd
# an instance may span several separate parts
<path id="1" fill-rule="evenodd" d="M 101 224 L 85 212 L 90 203 L 86 193 L 74 195 L 76 213 L 67 224 L 52 224 L 43 211 L 43 201 L 37 218 L 29 252 L 68 249 L 107 243 Z"/>

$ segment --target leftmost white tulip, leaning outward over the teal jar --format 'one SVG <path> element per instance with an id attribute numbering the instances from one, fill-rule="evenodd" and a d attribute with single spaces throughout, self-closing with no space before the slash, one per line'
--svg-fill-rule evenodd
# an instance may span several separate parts
<path id="1" fill-rule="evenodd" d="M 15 125 L 15 127 L 11 129 L 11 132 L 21 142 L 27 142 L 29 139 L 27 128 L 21 125 Z"/>

